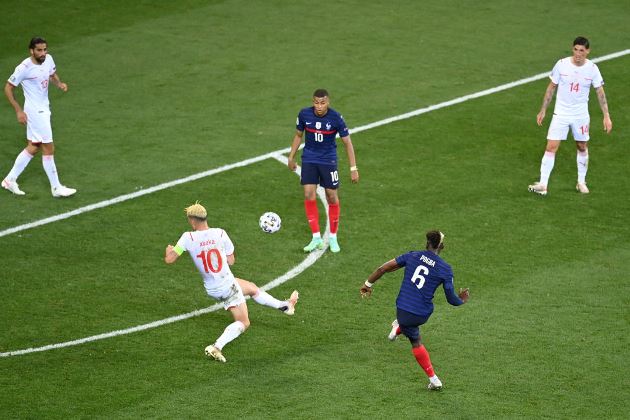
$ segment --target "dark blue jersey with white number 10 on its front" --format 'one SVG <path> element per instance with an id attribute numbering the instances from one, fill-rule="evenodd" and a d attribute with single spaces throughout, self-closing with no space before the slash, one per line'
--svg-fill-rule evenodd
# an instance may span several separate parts
<path id="1" fill-rule="evenodd" d="M 337 164 L 337 133 L 339 137 L 349 135 L 348 127 L 341 114 L 332 108 L 322 117 L 315 114 L 314 107 L 304 108 L 298 114 L 296 127 L 306 132 L 303 163 L 317 163 L 322 165 Z"/>

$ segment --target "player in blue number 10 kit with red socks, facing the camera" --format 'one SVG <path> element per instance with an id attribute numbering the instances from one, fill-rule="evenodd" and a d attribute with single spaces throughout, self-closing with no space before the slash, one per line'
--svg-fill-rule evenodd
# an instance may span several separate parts
<path id="1" fill-rule="evenodd" d="M 328 92 L 317 89 L 313 93 L 313 106 L 300 111 L 296 122 L 296 132 L 289 153 L 289 169 L 295 171 L 295 154 L 300 148 L 302 137 L 306 132 L 304 151 L 302 152 L 301 182 L 304 186 L 304 209 L 306 218 L 313 233 L 313 239 L 304 247 L 304 252 L 323 249 L 324 242 L 319 231 L 319 212 L 317 210 L 317 185 L 324 187 L 328 202 L 328 218 L 330 222 L 330 250 L 339 252 L 337 229 L 339 227 L 339 172 L 337 171 L 337 143 L 339 134 L 346 147 L 350 178 L 353 183 L 359 182 L 359 171 L 354 156 L 354 148 L 348 127 L 340 113 L 329 107 Z"/>

